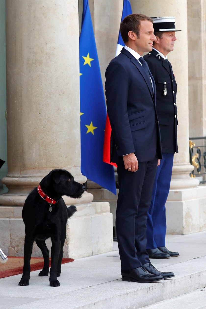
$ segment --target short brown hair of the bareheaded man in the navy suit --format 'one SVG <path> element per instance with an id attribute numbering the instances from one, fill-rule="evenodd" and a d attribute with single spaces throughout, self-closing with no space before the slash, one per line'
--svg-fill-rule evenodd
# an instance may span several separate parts
<path id="1" fill-rule="evenodd" d="M 140 37 L 140 23 L 141 20 L 149 20 L 151 23 L 153 23 L 153 20 L 143 14 L 130 14 L 122 20 L 120 23 L 120 33 L 122 36 L 122 40 L 124 43 L 128 42 L 128 32 L 133 31 L 137 34 L 137 37 Z"/>

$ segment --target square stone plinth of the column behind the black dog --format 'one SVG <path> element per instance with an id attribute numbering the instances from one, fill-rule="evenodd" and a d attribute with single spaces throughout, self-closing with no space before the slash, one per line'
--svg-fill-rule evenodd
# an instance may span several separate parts
<path id="1" fill-rule="evenodd" d="M 91 202 L 76 205 L 77 212 L 68 220 L 64 257 L 81 258 L 103 252 L 113 247 L 112 214 L 108 202 Z M 0 235 L 3 252 L 23 256 L 25 226 L 22 208 L 0 206 Z M 50 239 L 46 240 L 51 249 Z M 42 256 L 40 249 L 33 245 L 32 256 Z"/>

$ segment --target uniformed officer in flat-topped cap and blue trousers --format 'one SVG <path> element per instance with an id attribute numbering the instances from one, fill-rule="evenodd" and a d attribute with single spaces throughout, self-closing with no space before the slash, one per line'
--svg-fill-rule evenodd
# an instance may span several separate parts
<path id="1" fill-rule="evenodd" d="M 156 84 L 156 109 L 158 114 L 163 159 L 158 166 L 147 219 L 147 252 L 150 258 L 164 259 L 179 256 L 165 247 L 165 203 L 170 189 L 174 153 L 177 147 L 177 83 L 167 54 L 173 51 L 176 40 L 174 17 L 152 17 L 153 49 L 144 56 Z"/>

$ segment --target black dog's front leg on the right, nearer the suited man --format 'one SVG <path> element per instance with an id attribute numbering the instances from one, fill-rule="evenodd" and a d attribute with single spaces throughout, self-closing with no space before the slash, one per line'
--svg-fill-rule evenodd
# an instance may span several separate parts
<path id="1" fill-rule="evenodd" d="M 57 264 L 59 259 L 59 253 L 60 253 L 60 245 L 61 241 L 60 239 L 57 239 L 56 237 L 51 237 L 52 240 L 52 248 L 51 248 L 51 268 L 50 268 L 50 286 L 60 286 L 59 281 L 57 280 Z"/>

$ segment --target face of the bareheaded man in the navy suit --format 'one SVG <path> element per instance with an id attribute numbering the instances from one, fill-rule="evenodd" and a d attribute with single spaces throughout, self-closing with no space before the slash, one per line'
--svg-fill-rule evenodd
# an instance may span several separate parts
<path id="1" fill-rule="evenodd" d="M 142 55 L 144 52 L 152 50 L 153 40 L 156 40 L 154 35 L 153 24 L 149 20 L 142 20 L 140 24 L 139 38 L 135 34 L 135 47 L 137 53 Z"/>

